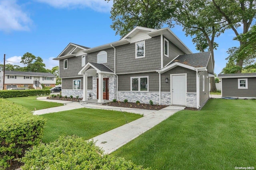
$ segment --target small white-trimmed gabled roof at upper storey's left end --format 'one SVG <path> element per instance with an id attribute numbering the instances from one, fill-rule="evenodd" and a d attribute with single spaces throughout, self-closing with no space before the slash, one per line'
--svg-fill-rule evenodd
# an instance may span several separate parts
<path id="1" fill-rule="evenodd" d="M 69 43 L 68 46 L 58 55 L 54 60 L 68 59 L 70 57 L 76 56 L 79 50 L 86 50 L 88 47 L 77 45 L 74 43 Z"/>

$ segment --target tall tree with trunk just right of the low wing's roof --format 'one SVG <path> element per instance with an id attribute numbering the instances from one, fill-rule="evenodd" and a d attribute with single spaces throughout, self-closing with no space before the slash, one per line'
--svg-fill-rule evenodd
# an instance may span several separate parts
<path id="1" fill-rule="evenodd" d="M 222 16 L 217 15 L 213 4 L 209 0 L 173 0 L 172 20 L 182 25 L 186 35 L 194 36 L 193 42 L 196 48 L 203 52 L 207 47 L 212 54 L 214 66 L 214 49 L 218 46 L 215 38 L 223 33 L 226 25 Z M 218 13 L 218 12 L 217 12 Z M 211 91 L 216 91 L 214 77 L 210 78 Z"/>

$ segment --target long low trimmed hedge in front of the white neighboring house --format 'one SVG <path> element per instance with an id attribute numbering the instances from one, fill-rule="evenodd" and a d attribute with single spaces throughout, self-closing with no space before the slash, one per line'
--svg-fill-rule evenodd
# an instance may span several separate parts
<path id="1" fill-rule="evenodd" d="M 50 95 L 50 90 L 0 90 L 0 98 Z"/>

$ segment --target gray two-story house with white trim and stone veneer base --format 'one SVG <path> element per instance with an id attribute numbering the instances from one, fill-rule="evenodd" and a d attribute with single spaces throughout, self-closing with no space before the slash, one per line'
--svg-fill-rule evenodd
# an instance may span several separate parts
<path id="1" fill-rule="evenodd" d="M 136 27 L 119 41 L 88 48 L 70 43 L 60 61 L 63 96 L 83 100 L 200 108 L 214 76 L 210 52 L 192 52 L 169 28 Z"/>

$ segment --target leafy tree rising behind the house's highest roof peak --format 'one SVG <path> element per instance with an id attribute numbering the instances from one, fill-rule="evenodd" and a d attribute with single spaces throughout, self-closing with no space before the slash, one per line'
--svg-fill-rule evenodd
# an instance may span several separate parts
<path id="1" fill-rule="evenodd" d="M 159 29 L 170 17 L 168 6 L 166 0 L 113 0 L 110 27 L 121 37 L 135 26 Z"/>

